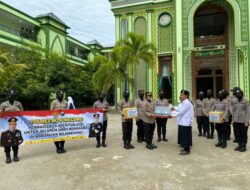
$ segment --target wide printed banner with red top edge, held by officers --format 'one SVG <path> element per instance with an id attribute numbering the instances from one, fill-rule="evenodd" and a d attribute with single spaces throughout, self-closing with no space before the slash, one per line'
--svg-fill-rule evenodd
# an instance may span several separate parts
<path id="1" fill-rule="evenodd" d="M 0 134 L 9 129 L 8 120 L 15 117 L 24 144 L 84 139 L 89 137 L 94 114 L 99 114 L 102 123 L 102 109 L 5 112 L 0 116 Z"/>

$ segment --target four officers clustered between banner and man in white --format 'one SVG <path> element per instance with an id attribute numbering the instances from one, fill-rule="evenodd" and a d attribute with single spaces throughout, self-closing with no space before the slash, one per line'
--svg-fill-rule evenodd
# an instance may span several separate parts
<path id="1" fill-rule="evenodd" d="M 138 117 L 136 118 L 137 125 L 137 142 L 146 142 L 146 148 L 153 150 L 157 146 L 152 143 L 155 130 L 155 123 L 157 124 L 157 142 L 165 141 L 166 138 L 166 117 L 155 117 L 156 106 L 169 106 L 168 100 L 164 97 L 164 92 L 159 93 L 159 99 L 153 100 L 152 92 L 146 92 L 144 98 L 144 91 L 138 91 L 138 98 L 135 100 L 135 104 L 129 100 L 129 92 L 123 92 L 123 99 L 118 103 L 118 109 L 122 116 L 122 132 L 123 142 L 125 149 L 134 149 L 134 145 L 131 144 L 132 131 L 133 131 L 133 119 L 126 119 L 123 115 L 124 108 L 132 108 L 134 105 L 137 108 Z"/>

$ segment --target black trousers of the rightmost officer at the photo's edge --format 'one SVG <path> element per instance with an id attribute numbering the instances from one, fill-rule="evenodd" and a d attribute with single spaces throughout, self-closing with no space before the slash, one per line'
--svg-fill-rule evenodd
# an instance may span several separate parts
<path id="1" fill-rule="evenodd" d="M 247 144 L 247 131 L 248 126 L 245 127 L 245 123 L 235 123 L 234 128 L 236 130 L 236 139 L 238 140 L 239 146 L 246 146 Z"/>

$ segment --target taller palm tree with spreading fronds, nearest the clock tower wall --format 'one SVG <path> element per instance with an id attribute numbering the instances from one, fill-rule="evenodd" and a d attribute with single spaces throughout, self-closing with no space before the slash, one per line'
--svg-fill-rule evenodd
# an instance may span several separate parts
<path id="1" fill-rule="evenodd" d="M 149 67 L 153 66 L 156 48 L 152 43 L 147 43 L 144 36 L 128 33 L 124 39 L 117 42 L 116 46 L 122 47 L 123 56 L 128 59 L 127 63 L 131 76 L 135 75 L 136 65 L 138 64 L 146 63 Z M 136 86 L 135 82 L 134 80 L 134 88 Z"/>

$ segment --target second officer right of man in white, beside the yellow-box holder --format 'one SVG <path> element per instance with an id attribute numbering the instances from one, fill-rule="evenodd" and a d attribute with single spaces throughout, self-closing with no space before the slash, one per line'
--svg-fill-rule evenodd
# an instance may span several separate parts
<path id="1" fill-rule="evenodd" d="M 207 98 L 204 99 L 203 104 L 203 113 L 204 113 L 204 126 L 207 131 L 207 138 L 213 139 L 214 138 L 214 124 L 209 122 L 209 112 L 213 111 L 215 99 L 212 97 L 212 90 L 208 89 Z M 210 133 L 211 128 L 211 133 Z"/>

